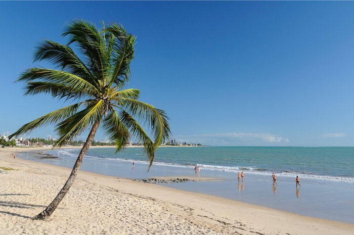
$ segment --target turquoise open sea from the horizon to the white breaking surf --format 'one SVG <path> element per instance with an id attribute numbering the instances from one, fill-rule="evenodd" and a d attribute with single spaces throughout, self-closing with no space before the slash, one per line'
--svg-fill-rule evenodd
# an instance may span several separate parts
<path id="1" fill-rule="evenodd" d="M 77 156 L 79 149 L 66 151 Z M 86 158 L 106 158 L 147 164 L 142 148 L 127 148 L 114 154 L 113 148 L 92 148 Z M 164 147 L 156 152 L 154 165 L 169 165 L 214 171 L 245 171 L 253 174 L 301 175 L 354 182 L 353 147 Z"/>

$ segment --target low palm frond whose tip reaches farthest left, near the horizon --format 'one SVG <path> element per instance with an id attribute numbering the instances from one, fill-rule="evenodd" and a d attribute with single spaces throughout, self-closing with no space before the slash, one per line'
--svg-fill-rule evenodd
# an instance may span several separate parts
<path id="1" fill-rule="evenodd" d="M 37 118 L 27 124 L 24 124 L 15 133 L 12 133 L 9 136 L 9 139 L 11 139 L 12 137 L 14 137 L 16 135 L 29 133 L 38 127 L 45 126 L 50 123 L 61 122 L 65 119 L 71 117 L 74 113 L 76 113 L 82 104 L 83 104 L 83 102 L 77 103 L 74 105 L 70 105 L 70 106 L 67 106 L 62 109 L 58 109 L 58 110 L 48 113 L 44 116 L 41 116 L 40 118 Z"/>

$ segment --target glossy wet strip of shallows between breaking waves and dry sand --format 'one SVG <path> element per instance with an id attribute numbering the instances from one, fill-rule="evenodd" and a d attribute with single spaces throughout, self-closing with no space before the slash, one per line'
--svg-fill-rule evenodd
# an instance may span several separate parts
<path id="1" fill-rule="evenodd" d="M 354 224 L 354 213 L 349 209 L 354 206 L 354 202 L 351 200 L 354 196 L 354 191 L 352 191 L 354 190 L 354 184 L 352 182 L 342 182 L 337 178 L 335 178 L 335 181 L 327 179 L 324 181 L 318 177 L 307 176 L 305 178 L 300 174 L 301 182 L 304 184 L 302 185 L 303 187 L 298 189 L 295 188 L 292 177 L 289 177 L 287 173 L 278 175 L 279 185 L 272 186 L 269 173 L 246 171 L 245 183 L 237 183 L 235 171 L 228 171 L 228 169 L 220 171 L 202 168 L 201 174 L 197 176 L 194 174 L 194 166 L 192 167 L 189 164 L 166 165 L 163 162 L 155 161 L 154 166 L 151 167 L 150 171 L 147 171 L 148 163 L 141 161 L 141 156 L 140 160 L 135 159 L 136 155 L 142 155 L 139 148 L 126 150 L 118 159 L 111 158 L 110 153 L 113 149 L 110 148 L 108 152 L 107 150 L 92 149 L 92 153 L 87 153 L 87 158 L 83 161 L 80 169 L 113 177 L 140 179 L 145 182 L 159 181 L 163 186 L 173 189 L 213 195 L 299 215 Z M 172 149 L 169 148 L 165 154 L 170 153 L 170 151 Z M 55 156 L 58 154 L 57 150 L 48 152 L 45 150 L 28 151 L 19 156 L 22 159 L 72 169 L 77 158 L 78 149 L 62 149 L 59 153 L 60 156 L 65 154 L 65 158 Z M 109 157 L 95 157 L 99 156 L 99 154 L 108 155 Z M 132 166 L 132 161 L 135 161 L 135 166 Z M 167 177 L 165 181 L 158 180 L 161 176 Z M 217 180 L 198 180 L 199 176 L 217 178 Z M 174 183 L 177 178 L 189 178 L 191 180 L 183 181 L 183 183 Z"/>

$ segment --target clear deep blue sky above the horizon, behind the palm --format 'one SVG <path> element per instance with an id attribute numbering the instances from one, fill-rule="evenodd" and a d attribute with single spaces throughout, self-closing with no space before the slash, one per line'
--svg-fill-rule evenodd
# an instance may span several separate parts
<path id="1" fill-rule="evenodd" d="M 63 107 L 13 83 L 73 19 L 137 36 L 128 87 L 173 137 L 212 146 L 354 145 L 353 2 L 0 2 L 0 133 Z M 53 127 L 30 137 L 55 136 Z M 97 139 L 105 138 L 102 132 Z M 85 139 L 82 134 L 81 139 Z"/>

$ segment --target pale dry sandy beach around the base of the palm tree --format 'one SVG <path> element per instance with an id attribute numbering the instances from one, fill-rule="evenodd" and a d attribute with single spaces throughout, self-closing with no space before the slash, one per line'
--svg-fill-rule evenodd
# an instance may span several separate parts
<path id="1" fill-rule="evenodd" d="M 40 148 L 43 150 L 43 148 Z M 354 224 L 79 171 L 50 221 L 32 221 L 70 169 L 0 150 L 0 234 L 353 234 Z M 35 150 L 31 148 L 30 150 Z"/>

